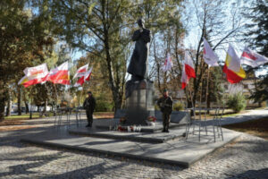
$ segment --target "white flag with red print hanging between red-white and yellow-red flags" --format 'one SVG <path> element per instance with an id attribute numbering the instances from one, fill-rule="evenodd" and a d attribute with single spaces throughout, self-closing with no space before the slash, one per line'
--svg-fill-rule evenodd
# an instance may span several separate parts
<path id="1" fill-rule="evenodd" d="M 206 39 L 203 38 L 203 40 L 204 40 L 203 53 L 204 53 L 205 64 L 208 64 L 208 67 L 219 66 L 218 64 L 219 57 L 215 55 L 214 50 L 209 46 Z"/>

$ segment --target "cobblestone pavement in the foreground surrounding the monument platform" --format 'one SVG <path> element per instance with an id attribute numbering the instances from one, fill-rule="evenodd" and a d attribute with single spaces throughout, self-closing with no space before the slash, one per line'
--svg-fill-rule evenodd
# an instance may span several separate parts
<path id="1" fill-rule="evenodd" d="M 0 132 L 0 178 L 268 178 L 268 141 L 243 134 L 188 169 L 21 143 L 45 128 Z"/>

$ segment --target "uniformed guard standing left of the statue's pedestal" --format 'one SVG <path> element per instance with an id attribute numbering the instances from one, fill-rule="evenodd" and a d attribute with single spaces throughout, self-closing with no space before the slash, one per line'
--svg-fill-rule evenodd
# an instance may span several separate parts
<path id="1" fill-rule="evenodd" d="M 91 127 L 93 123 L 93 112 L 96 107 L 96 100 L 91 91 L 88 91 L 88 98 L 85 99 L 83 107 L 86 109 L 88 119 L 88 125 L 86 125 L 86 127 Z"/>

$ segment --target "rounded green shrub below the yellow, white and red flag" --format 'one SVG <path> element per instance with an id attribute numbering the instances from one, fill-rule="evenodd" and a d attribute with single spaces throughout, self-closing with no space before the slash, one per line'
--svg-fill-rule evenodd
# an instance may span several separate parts
<path id="1" fill-rule="evenodd" d="M 242 93 L 231 95 L 227 101 L 227 107 L 231 108 L 235 113 L 239 113 L 247 106 L 247 101 Z"/>

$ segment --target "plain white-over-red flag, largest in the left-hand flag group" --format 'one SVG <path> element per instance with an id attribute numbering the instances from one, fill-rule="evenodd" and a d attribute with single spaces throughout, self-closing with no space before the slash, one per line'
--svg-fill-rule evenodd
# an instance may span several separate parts
<path id="1" fill-rule="evenodd" d="M 70 72 L 68 70 L 68 61 L 50 70 L 46 76 L 46 81 L 52 81 L 57 84 L 70 85 Z"/>

